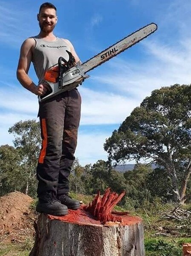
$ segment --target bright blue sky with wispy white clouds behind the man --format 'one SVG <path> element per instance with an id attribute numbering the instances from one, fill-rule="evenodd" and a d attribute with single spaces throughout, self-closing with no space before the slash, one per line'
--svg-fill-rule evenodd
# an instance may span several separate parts
<path id="1" fill-rule="evenodd" d="M 37 119 L 38 99 L 16 79 L 22 42 L 39 33 L 44 1 L 0 0 L 0 145 L 12 145 L 9 127 Z M 69 39 L 84 62 L 152 22 L 158 30 L 90 71 L 79 91 L 81 124 L 75 156 L 81 165 L 107 160 L 103 144 L 153 89 L 191 83 L 190 0 L 52 0 L 55 35 Z M 31 66 L 30 77 L 38 80 Z"/>

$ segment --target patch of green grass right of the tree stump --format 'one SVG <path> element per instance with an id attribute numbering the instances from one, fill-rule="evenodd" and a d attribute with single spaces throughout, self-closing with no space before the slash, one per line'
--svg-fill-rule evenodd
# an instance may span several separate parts
<path id="1" fill-rule="evenodd" d="M 191 205 L 184 205 L 183 208 L 190 207 Z M 145 256 L 182 256 L 182 244 L 191 243 L 191 238 L 185 235 L 191 235 L 190 227 L 183 226 L 177 231 L 177 226 L 187 224 L 188 220 L 179 222 L 161 218 L 165 211 L 171 211 L 174 208 L 174 203 L 164 204 L 160 199 L 156 199 L 151 204 L 145 202 L 135 211 L 135 214 L 143 219 Z M 157 235 L 157 233 L 170 235 L 173 232 L 174 236 L 171 237 Z"/>

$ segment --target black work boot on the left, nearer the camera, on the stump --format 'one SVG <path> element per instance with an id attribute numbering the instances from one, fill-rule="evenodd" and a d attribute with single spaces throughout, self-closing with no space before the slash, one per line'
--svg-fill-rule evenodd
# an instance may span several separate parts
<path id="1" fill-rule="evenodd" d="M 39 196 L 36 211 L 55 216 L 68 214 L 67 206 L 61 204 L 52 192 L 47 192 Z"/>

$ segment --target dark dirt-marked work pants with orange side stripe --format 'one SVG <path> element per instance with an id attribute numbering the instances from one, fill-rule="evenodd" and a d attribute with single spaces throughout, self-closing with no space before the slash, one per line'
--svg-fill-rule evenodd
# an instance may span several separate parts
<path id="1" fill-rule="evenodd" d="M 77 89 L 62 92 L 40 103 L 42 147 L 37 166 L 38 197 L 46 192 L 69 192 L 69 174 L 75 160 L 81 114 Z"/>

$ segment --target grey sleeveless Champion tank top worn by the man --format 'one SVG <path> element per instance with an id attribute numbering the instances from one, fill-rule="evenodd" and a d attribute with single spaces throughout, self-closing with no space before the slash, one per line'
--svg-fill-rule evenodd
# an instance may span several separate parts
<path id="1" fill-rule="evenodd" d="M 32 63 L 35 68 L 39 83 L 44 80 L 45 71 L 55 64 L 58 64 L 58 58 L 63 57 L 69 60 L 69 55 L 66 50 L 70 51 L 69 45 L 61 38 L 56 41 L 45 41 L 37 37 L 35 39 L 36 45 L 32 56 Z"/>

